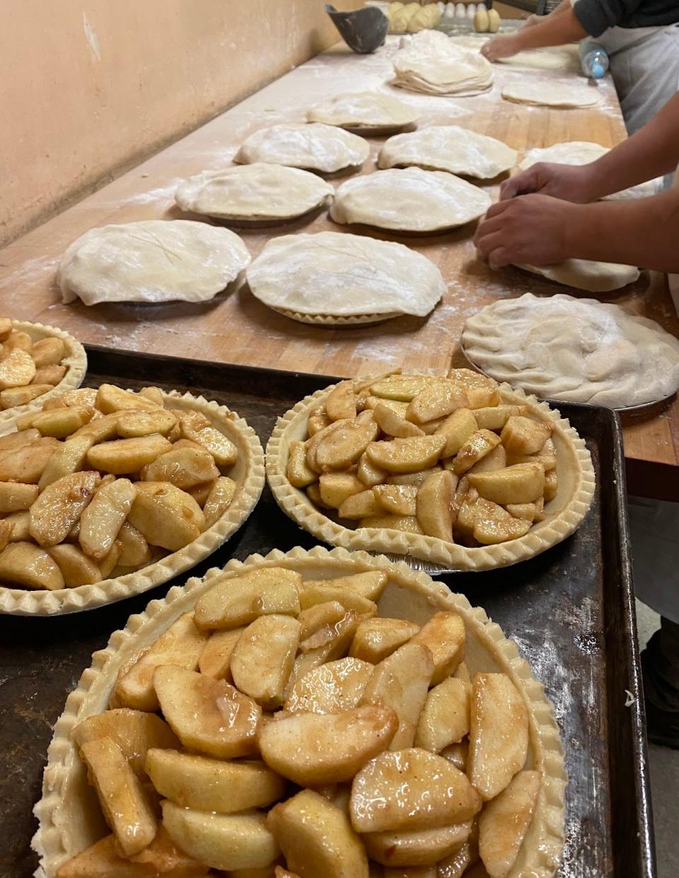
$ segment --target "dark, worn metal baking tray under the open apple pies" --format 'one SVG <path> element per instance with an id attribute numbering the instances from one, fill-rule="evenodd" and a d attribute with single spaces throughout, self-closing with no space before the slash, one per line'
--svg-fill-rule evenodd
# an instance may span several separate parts
<path id="1" fill-rule="evenodd" d="M 332 378 L 90 347 L 85 381 L 157 384 L 235 409 L 265 443 L 279 414 Z M 654 839 L 616 414 L 560 405 L 587 441 L 598 487 L 574 536 L 538 558 L 441 577 L 513 637 L 551 697 L 566 749 L 567 842 L 560 878 L 654 878 Z M 192 573 L 252 552 L 311 547 L 268 489 L 249 522 Z M 182 582 L 186 574 L 177 579 Z M 175 582 L 174 584 L 177 584 Z M 0 618 L 0 875 L 29 878 L 33 803 L 54 722 L 93 651 L 173 583 L 89 613 Z M 632 694 L 629 707 L 626 693 Z"/>

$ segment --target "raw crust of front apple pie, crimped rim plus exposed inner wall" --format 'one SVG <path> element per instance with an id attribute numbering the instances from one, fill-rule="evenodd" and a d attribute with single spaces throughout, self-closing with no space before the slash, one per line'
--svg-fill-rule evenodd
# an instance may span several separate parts
<path id="1" fill-rule="evenodd" d="M 298 570 L 310 579 L 379 568 L 389 573 L 386 590 L 379 600 L 380 615 L 416 623 L 424 623 L 439 610 L 454 611 L 463 617 L 466 663 L 470 670 L 507 673 L 524 696 L 531 728 L 527 764 L 542 776 L 538 805 L 509 878 L 551 878 L 563 852 L 567 775 L 552 704 L 528 662 L 519 655 L 516 644 L 504 636 L 483 609 L 472 607 L 463 594 L 452 594 L 444 583 L 413 572 L 402 561 L 392 564 L 383 556 L 343 549 L 328 551 L 321 546 L 311 551 L 298 547 L 285 554 L 274 549 L 265 557 L 251 555 L 244 562 L 233 559 L 224 571 L 236 576 L 279 565 Z M 119 668 L 135 652 L 152 644 L 179 615 L 191 610 L 199 596 L 210 588 L 213 577 L 221 572 L 213 568 L 203 579 L 192 578 L 184 587 L 170 588 L 163 600 L 151 601 L 143 613 L 130 616 L 125 629 L 115 631 L 106 648 L 94 653 L 92 665 L 69 694 L 47 750 L 42 798 L 33 810 L 40 823 L 32 843 L 33 850 L 40 855 L 36 878 L 54 878 L 63 862 L 92 845 L 106 831 L 96 793 L 89 786 L 76 746 L 69 739 L 70 731 L 86 716 L 106 709 Z"/>

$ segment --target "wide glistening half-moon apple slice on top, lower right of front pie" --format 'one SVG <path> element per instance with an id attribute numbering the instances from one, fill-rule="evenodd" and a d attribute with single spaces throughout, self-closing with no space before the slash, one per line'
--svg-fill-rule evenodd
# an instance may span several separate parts
<path id="1" fill-rule="evenodd" d="M 466 823 L 480 795 L 447 759 L 412 747 L 380 753 L 351 785 L 351 824 L 357 832 L 415 831 Z"/>

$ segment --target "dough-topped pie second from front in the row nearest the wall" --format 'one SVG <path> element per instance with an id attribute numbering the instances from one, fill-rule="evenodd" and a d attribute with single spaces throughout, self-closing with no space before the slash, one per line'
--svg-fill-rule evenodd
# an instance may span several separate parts
<path id="1" fill-rule="evenodd" d="M 175 201 L 184 211 L 220 219 L 293 219 L 334 192 L 306 170 L 255 162 L 191 176 L 177 188 Z"/>

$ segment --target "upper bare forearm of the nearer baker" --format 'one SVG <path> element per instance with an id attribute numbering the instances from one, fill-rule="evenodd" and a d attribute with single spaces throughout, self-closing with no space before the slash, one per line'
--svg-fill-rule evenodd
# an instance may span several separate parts
<path id="1" fill-rule="evenodd" d="M 632 137 L 589 166 L 592 199 L 670 174 L 679 164 L 679 95 Z"/>

